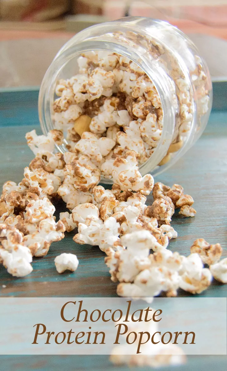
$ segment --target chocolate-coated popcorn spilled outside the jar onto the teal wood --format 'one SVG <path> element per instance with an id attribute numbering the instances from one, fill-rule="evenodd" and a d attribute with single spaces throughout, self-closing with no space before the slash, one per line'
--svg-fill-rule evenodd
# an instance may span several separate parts
<path id="1" fill-rule="evenodd" d="M 99 246 L 106 253 L 105 263 L 120 296 L 153 298 L 162 292 L 176 296 L 179 288 L 200 293 L 210 285 L 211 273 L 227 281 L 226 259 L 218 262 L 220 244 L 197 239 L 187 257 L 167 249 L 177 237 L 171 217 L 176 209 L 194 217 L 194 201 L 181 185 L 170 188 L 154 184 L 151 174 L 142 177 L 136 151 L 125 151 L 112 162 L 114 184 L 108 190 L 98 185 L 97 157 L 93 162 L 80 152 L 54 153 L 55 144 L 63 141 L 61 131 L 44 136 L 33 130 L 26 138 L 36 157 L 18 185 L 12 181 L 3 185 L 0 198 L 0 258 L 10 274 L 29 274 L 32 256 L 45 256 L 52 242 L 78 228 L 76 243 Z M 147 205 L 151 191 L 154 201 Z M 56 222 L 53 202 L 60 197 L 70 212 L 60 213 Z M 76 270 L 78 263 L 73 254 L 55 259 L 59 273 Z"/>

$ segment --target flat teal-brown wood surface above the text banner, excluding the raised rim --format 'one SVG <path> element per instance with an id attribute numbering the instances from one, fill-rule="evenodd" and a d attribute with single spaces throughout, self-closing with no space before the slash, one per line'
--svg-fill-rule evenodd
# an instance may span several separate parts
<path id="1" fill-rule="evenodd" d="M 213 112 L 203 136 L 184 157 L 156 181 L 165 184 L 182 184 L 185 192 L 195 200 L 197 215 L 194 218 L 173 217 L 173 227 L 178 238 L 170 242 L 170 249 L 184 255 L 190 253 L 191 243 L 204 237 L 210 243 L 220 242 L 227 256 L 227 112 Z M 0 169 L 1 184 L 7 180 L 19 182 L 23 169 L 33 158 L 24 135 L 33 126 L 1 128 Z M 37 131 L 40 128 L 37 127 Z M 151 196 L 148 202 L 152 202 Z M 57 213 L 64 205 L 56 206 Z M 103 263 L 104 253 L 97 247 L 77 245 L 69 233 L 60 242 L 53 243 L 48 255 L 34 259 L 33 272 L 24 278 L 11 277 L 0 268 L 1 296 L 115 296 L 116 284 L 109 279 Z M 54 257 L 61 252 L 76 253 L 80 264 L 75 273 L 59 275 Z M 183 292 L 181 293 L 183 294 Z M 201 296 L 227 296 L 227 285 L 216 281 Z"/>

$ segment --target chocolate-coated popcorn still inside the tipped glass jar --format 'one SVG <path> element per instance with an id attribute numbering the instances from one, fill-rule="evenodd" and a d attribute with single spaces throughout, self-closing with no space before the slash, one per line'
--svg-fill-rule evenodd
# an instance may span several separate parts
<path id="1" fill-rule="evenodd" d="M 148 50 L 153 45 L 146 38 L 144 42 L 148 43 Z M 187 79 L 167 50 L 158 53 L 160 63 L 166 55 L 171 64 L 169 79 L 176 126 L 171 145 L 159 166 L 183 147 L 193 120 L 191 102 L 194 98 Z M 53 125 L 64 136 L 64 149 L 88 156 L 103 178 L 113 179 L 116 158 L 126 158 L 128 151 L 134 151 L 140 166 L 153 155 L 163 131 L 160 97 L 146 73 L 117 53 L 87 52 L 80 55 L 77 63 L 77 75 L 57 82 L 55 93 L 59 98 L 53 102 Z M 198 111 L 202 116 L 208 111 L 209 96 L 201 63 L 197 57 L 196 69 L 191 74 L 200 96 Z M 182 209 L 183 215 L 191 212 L 189 207 Z"/>

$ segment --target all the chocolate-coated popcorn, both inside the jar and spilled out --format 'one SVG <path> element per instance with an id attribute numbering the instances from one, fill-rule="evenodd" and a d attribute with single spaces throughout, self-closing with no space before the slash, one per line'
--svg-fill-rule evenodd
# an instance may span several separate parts
<path id="1" fill-rule="evenodd" d="M 121 42 L 124 36 L 114 37 Z M 131 47 L 135 37 L 131 35 Z M 183 147 L 183 136 L 190 134 L 193 97 L 177 60 L 154 40 L 143 38 L 143 43 L 156 60 L 165 65 L 168 59 L 171 66 L 170 92 L 178 118 L 170 147 L 158 164 L 161 166 Z M 116 53 L 86 52 L 77 62 L 79 73 L 56 85 L 59 98 L 52 107 L 54 129 L 46 136 L 35 130 L 26 134 L 36 157 L 24 169 L 21 183 L 6 182 L 3 186 L 3 264 L 13 275 L 30 273 L 32 255 L 46 255 L 50 244 L 61 240 L 65 230 L 78 226 L 74 241 L 97 245 L 106 252 L 111 279 L 120 282 L 119 295 L 151 297 L 164 291 L 167 296 L 176 296 L 178 287 L 200 293 L 212 278 L 201 259 L 215 270 L 215 265 L 221 265 L 216 263 L 221 246 L 198 239 L 187 258 L 167 250 L 169 240 L 177 237 L 170 226 L 175 206 L 180 207 L 179 214 L 194 216 L 193 198 L 184 195 L 180 185 L 154 185 L 153 177 L 142 177 L 138 167 L 153 155 L 163 130 L 163 108 L 153 82 L 136 63 Z M 201 60 L 196 63 L 190 73 L 201 117 L 208 111 L 209 97 Z M 55 144 L 64 144 L 68 152 L 53 153 Z M 97 185 L 101 174 L 113 179 L 112 190 Z M 146 196 L 152 190 L 154 202 L 147 206 Z M 49 199 L 58 196 L 72 213 L 60 213 L 56 223 Z M 78 260 L 63 253 L 56 257 L 55 265 L 59 273 L 74 271 Z M 223 280 L 225 271 L 219 274 L 219 266 L 216 270 Z M 154 357 L 147 360 L 156 361 Z"/>

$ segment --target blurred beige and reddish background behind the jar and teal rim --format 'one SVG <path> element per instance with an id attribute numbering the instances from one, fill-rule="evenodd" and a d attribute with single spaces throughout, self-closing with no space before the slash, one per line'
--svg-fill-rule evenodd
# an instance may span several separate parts
<path id="1" fill-rule="evenodd" d="M 39 86 L 71 36 L 124 16 L 174 24 L 197 45 L 213 81 L 227 80 L 227 0 L 0 0 L 0 88 Z"/>

